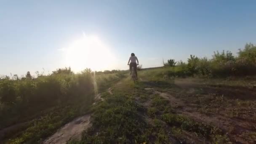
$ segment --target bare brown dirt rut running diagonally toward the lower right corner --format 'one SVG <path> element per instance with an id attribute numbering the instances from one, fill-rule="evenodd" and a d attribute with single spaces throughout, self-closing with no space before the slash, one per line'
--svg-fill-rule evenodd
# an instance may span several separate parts
<path id="1" fill-rule="evenodd" d="M 145 88 L 145 90 L 152 91 L 152 93 L 158 94 L 162 98 L 167 99 L 170 102 L 171 106 L 176 110 L 178 115 L 190 117 L 199 122 L 213 124 L 218 128 L 224 130 L 224 132 L 226 132 L 227 134 L 237 133 L 236 135 L 229 135 L 230 138 L 237 143 L 247 143 L 247 141 L 245 141 L 240 135 L 245 131 L 251 130 L 252 125 L 256 125 L 255 123 L 248 123 L 244 122 L 243 120 L 224 117 L 223 115 L 204 115 L 200 112 L 197 112 L 197 108 L 193 107 L 193 105 L 185 104 L 184 101 L 175 98 L 169 93 L 160 92 L 154 88 Z"/>

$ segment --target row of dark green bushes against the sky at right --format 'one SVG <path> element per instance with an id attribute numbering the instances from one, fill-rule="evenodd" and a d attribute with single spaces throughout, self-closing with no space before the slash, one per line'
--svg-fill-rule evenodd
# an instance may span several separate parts
<path id="1" fill-rule="evenodd" d="M 174 60 L 170 61 L 173 64 Z M 168 65 L 168 64 L 165 64 Z M 256 46 L 246 44 L 235 57 L 230 51 L 216 51 L 212 59 L 190 55 L 187 64 L 179 61 L 175 68 L 168 68 L 159 76 L 163 77 L 228 77 L 256 74 Z"/>

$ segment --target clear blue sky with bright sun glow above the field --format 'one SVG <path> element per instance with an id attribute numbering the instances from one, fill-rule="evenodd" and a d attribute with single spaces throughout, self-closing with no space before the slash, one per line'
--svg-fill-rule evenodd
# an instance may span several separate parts
<path id="1" fill-rule="evenodd" d="M 256 0 L 0 0 L 0 75 L 127 69 L 256 43 Z"/>

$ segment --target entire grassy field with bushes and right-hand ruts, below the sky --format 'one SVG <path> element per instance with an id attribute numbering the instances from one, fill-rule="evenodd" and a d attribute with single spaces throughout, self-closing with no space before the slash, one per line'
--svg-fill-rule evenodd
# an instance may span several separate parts
<path id="1" fill-rule="evenodd" d="M 211 59 L 169 59 L 141 69 L 135 84 L 128 71 L 117 70 L 0 77 L 0 143 L 42 143 L 86 114 L 91 126 L 69 143 L 253 144 L 255 62 L 250 43 L 237 56 L 216 51 Z M 103 101 L 93 104 L 95 96 Z"/>

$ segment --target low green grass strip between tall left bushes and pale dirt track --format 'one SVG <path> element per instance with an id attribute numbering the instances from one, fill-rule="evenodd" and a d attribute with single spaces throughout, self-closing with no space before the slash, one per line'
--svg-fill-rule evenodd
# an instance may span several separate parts
<path id="1" fill-rule="evenodd" d="M 19 133 L 13 133 L 16 136 L 14 135 L 13 137 L 10 133 L 10 139 L 8 139 L 7 143 L 21 144 L 27 142 L 30 144 L 39 144 L 65 123 L 88 112 L 89 106 L 90 104 L 86 104 L 84 100 L 71 106 L 54 109 L 47 115 L 42 115 L 38 119 L 31 120 L 26 129 Z"/>

